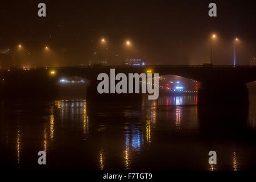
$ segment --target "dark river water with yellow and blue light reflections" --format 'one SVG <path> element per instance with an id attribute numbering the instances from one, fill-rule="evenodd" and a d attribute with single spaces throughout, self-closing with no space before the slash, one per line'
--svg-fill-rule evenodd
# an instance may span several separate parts
<path id="1" fill-rule="evenodd" d="M 255 168 L 256 96 L 249 107 L 198 107 L 197 96 L 134 105 L 0 101 L 0 163 L 17 169 Z M 38 152 L 46 152 L 46 166 Z M 216 151 L 217 165 L 209 165 Z"/>

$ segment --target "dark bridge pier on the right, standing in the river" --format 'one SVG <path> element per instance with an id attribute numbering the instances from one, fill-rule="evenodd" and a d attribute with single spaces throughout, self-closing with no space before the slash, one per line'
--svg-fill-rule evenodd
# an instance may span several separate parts
<path id="1" fill-rule="evenodd" d="M 249 93 L 243 83 L 202 83 L 198 105 L 249 105 Z"/>

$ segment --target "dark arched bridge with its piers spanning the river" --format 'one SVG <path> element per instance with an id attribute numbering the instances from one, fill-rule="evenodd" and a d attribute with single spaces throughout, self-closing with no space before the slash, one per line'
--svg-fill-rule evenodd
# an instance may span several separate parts
<path id="1" fill-rule="evenodd" d="M 58 88 L 56 82 L 63 77 L 79 76 L 90 80 L 88 96 L 93 100 L 122 102 L 123 100 L 141 100 L 141 94 L 98 94 L 97 85 L 100 81 L 97 76 L 100 73 L 107 73 L 110 76 L 110 69 L 117 73 L 152 73 L 160 75 L 177 75 L 201 82 L 199 89 L 198 104 L 249 104 L 247 82 L 256 80 L 256 67 L 203 67 L 192 65 L 148 65 L 145 67 L 74 67 L 74 68 L 36 68 L 28 71 L 14 69 L 9 71 L 0 70 L 0 93 L 2 96 L 27 95 L 38 97 L 39 94 L 48 93 L 49 96 L 56 94 Z M 51 75 L 51 70 L 55 75 Z M 24 93 L 24 94 L 20 94 Z M 128 99 L 125 99 L 125 98 Z"/>

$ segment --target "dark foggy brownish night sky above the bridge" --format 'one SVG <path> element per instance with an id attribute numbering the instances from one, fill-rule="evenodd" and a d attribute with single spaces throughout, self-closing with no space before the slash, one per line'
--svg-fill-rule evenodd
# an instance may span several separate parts
<path id="1" fill-rule="evenodd" d="M 38 17 L 40 2 L 46 3 L 46 18 Z M 217 4 L 215 18 L 208 16 L 210 2 Z M 128 57 L 144 57 L 148 64 L 202 64 L 209 61 L 214 33 L 214 64 L 233 63 L 235 37 L 239 63 L 250 64 L 256 49 L 253 2 L 1 0 L 0 49 L 14 53 L 22 44 L 30 56 L 17 60 L 30 66 L 88 64 L 100 52 L 109 64 Z M 100 51 L 101 38 L 108 49 Z"/>

